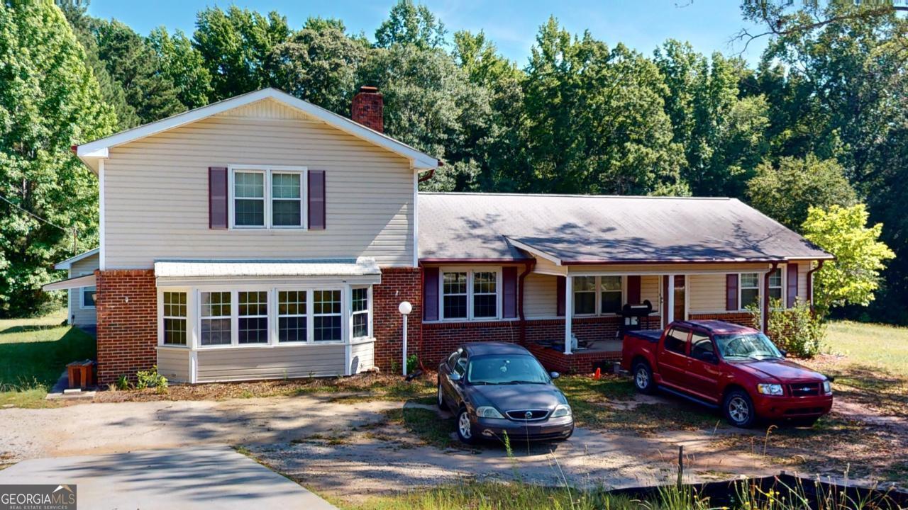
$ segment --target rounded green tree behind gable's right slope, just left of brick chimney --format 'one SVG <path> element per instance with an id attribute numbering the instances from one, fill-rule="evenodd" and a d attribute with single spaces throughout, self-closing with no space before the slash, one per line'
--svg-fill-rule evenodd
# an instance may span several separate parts
<path id="1" fill-rule="evenodd" d="M 319 19 L 274 46 L 268 62 L 274 70 L 274 84 L 284 92 L 349 114 L 356 75 L 368 53 L 362 41 L 350 39 L 337 25 Z"/>

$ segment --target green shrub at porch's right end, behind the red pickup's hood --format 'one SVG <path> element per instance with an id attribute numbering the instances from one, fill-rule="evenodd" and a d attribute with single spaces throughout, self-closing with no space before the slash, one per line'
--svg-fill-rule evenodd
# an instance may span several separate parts
<path id="1" fill-rule="evenodd" d="M 748 308 L 755 324 L 761 324 L 759 307 Z M 795 306 L 786 309 L 781 299 L 771 299 L 766 335 L 775 345 L 795 358 L 814 358 L 823 347 L 826 327 L 814 314 L 810 304 L 795 299 Z"/>

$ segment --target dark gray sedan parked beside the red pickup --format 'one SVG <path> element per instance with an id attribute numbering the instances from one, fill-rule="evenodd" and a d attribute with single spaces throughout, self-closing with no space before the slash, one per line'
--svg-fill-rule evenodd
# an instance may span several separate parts
<path id="1" fill-rule="evenodd" d="M 438 404 L 457 417 L 464 443 L 480 437 L 567 439 L 574 433 L 568 399 L 526 348 L 501 342 L 466 344 L 439 365 Z"/>

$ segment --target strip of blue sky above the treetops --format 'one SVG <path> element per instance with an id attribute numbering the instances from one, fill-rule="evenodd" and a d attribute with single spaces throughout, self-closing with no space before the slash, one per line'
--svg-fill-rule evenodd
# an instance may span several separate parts
<path id="1" fill-rule="evenodd" d="M 451 33 L 461 29 L 485 30 L 498 45 L 498 50 L 521 66 L 527 63 L 538 26 L 549 15 L 555 15 L 572 33 L 588 29 L 609 45 L 622 42 L 645 54 L 651 54 L 668 38 L 689 41 L 703 53 L 738 54 L 744 44 L 730 44 L 730 39 L 745 26 L 753 28 L 741 19 L 736 0 L 426 0 L 422 3 L 439 16 Z M 287 16 L 294 28 L 312 15 L 341 18 L 351 32 L 361 31 L 372 39 L 394 0 L 262 0 L 233 4 L 261 12 L 278 11 Z M 195 13 L 208 5 L 227 7 L 231 2 L 93 0 L 89 13 L 119 19 L 140 34 L 148 34 L 159 25 L 192 34 Z M 754 63 L 764 47 L 765 40 L 758 40 L 743 56 Z"/>

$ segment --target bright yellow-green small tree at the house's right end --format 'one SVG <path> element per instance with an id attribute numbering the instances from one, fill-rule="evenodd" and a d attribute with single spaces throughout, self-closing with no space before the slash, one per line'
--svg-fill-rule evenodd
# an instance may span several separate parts
<path id="1" fill-rule="evenodd" d="M 814 305 L 823 315 L 846 304 L 869 305 L 885 261 L 895 257 L 879 240 L 883 225 L 867 227 L 868 216 L 863 203 L 807 212 L 804 237 L 835 256 L 814 274 Z"/>

